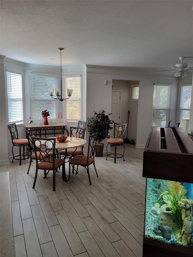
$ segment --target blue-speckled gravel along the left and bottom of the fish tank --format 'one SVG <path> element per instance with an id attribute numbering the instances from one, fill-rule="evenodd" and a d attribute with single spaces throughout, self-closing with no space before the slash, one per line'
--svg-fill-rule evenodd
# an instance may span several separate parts
<path id="1" fill-rule="evenodd" d="M 154 206 L 155 203 L 157 203 L 157 192 L 152 190 L 152 188 L 156 188 L 156 182 L 152 178 L 147 178 L 145 238 L 193 249 L 193 246 L 187 246 L 179 242 L 178 234 L 174 235 L 171 233 L 171 239 L 166 240 L 164 237 L 156 235 L 154 233 L 154 227 L 158 225 L 158 215 L 156 214 L 156 212 L 152 212 L 151 208 Z M 176 230 L 174 230 L 174 232 L 175 231 Z"/>

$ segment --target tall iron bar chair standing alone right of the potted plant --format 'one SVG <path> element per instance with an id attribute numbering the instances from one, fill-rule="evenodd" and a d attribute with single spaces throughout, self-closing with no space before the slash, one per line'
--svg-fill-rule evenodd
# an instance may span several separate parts
<path id="1" fill-rule="evenodd" d="M 124 152 L 125 152 L 125 146 L 124 146 L 124 137 L 125 137 L 125 131 L 126 131 L 126 127 L 127 124 L 126 123 L 114 123 L 114 135 L 113 138 L 109 138 L 107 140 L 108 144 L 106 147 L 106 151 L 107 151 L 107 156 L 106 156 L 106 160 L 107 157 L 110 158 L 114 158 L 114 163 L 116 163 L 116 158 L 122 158 L 123 157 L 123 161 L 125 161 L 124 159 Z M 109 153 L 108 154 L 108 146 L 114 146 L 114 153 Z M 124 150 L 123 153 L 117 153 L 117 146 L 123 146 Z"/>

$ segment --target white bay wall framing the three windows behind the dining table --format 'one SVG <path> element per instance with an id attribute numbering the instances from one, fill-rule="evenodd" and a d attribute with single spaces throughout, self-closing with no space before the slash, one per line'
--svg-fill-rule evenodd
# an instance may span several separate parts
<path id="1" fill-rule="evenodd" d="M 5 57 L 4 57 L 5 58 Z M 3 59 L 1 59 L 2 62 Z M 23 83 L 23 108 L 24 108 L 24 124 L 17 125 L 18 136 L 19 138 L 26 138 L 25 132 L 25 124 L 28 123 L 30 118 L 30 88 L 29 88 L 29 74 L 36 74 L 40 76 L 58 76 L 60 83 L 60 67 L 50 67 L 50 66 L 42 66 L 42 65 L 33 65 L 33 64 L 24 64 L 21 62 L 17 62 L 10 59 L 5 59 L 5 67 L 1 65 L 1 95 L 0 102 L 3 108 L 1 108 L 2 115 L 1 123 L 0 123 L 0 136 L 1 136 L 1 144 L 0 144 L 0 164 L 8 163 L 8 160 L 12 160 L 12 142 L 11 135 L 8 130 L 8 108 L 7 108 L 7 88 L 5 86 L 5 77 L 3 76 L 3 72 L 8 70 L 9 72 L 22 74 L 22 83 Z M 81 120 L 85 120 L 86 117 L 86 89 L 84 87 L 84 69 L 83 67 L 73 67 L 71 69 L 65 68 L 62 69 L 62 77 L 64 79 L 64 75 L 81 75 L 81 93 L 82 93 L 82 105 L 81 105 Z M 63 83 L 64 86 L 64 83 Z M 63 112 L 64 114 L 64 102 L 59 102 L 59 112 Z M 41 115 L 41 114 L 40 114 Z M 64 115 L 63 115 L 64 117 Z M 43 122 L 43 121 L 42 121 Z M 64 123 L 65 121 L 63 121 Z M 65 124 L 67 124 L 65 122 Z M 67 128 L 69 131 L 70 126 L 76 126 L 76 123 L 69 122 L 67 124 Z M 7 142 L 7 143 L 6 143 Z M 6 146 L 8 146 L 6 152 Z M 14 154 L 18 154 L 19 148 L 14 147 Z"/>

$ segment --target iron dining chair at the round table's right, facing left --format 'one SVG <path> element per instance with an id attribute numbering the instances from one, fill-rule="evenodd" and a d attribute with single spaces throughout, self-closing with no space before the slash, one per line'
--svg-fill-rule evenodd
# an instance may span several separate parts
<path id="1" fill-rule="evenodd" d="M 74 165 L 80 165 L 86 168 L 89 183 L 91 185 L 90 181 L 90 174 L 89 174 L 89 165 L 93 163 L 94 169 L 96 171 L 95 163 L 94 163 L 94 147 L 96 145 L 97 135 L 89 136 L 88 141 L 88 152 L 87 155 L 76 155 L 72 159 L 69 160 L 69 175 L 68 180 L 70 179 L 70 167 L 72 165 L 72 172 L 74 172 Z M 77 174 L 77 172 L 76 172 Z M 96 172 L 96 177 L 98 177 L 98 174 Z"/>

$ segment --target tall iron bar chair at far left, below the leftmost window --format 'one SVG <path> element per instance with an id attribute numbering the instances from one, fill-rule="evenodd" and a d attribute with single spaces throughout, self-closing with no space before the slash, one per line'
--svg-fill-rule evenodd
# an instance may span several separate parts
<path id="1" fill-rule="evenodd" d="M 28 144 L 28 140 L 26 138 L 18 138 L 18 132 L 17 132 L 17 126 L 15 123 L 9 124 L 8 125 L 10 134 L 11 134 L 11 140 L 12 140 L 12 155 L 13 155 L 13 160 L 19 160 L 19 165 L 21 165 L 21 160 L 25 160 L 25 156 L 28 156 L 27 159 L 29 158 L 29 144 Z M 13 152 L 13 148 L 14 146 L 18 146 L 19 147 L 19 155 L 14 155 Z M 23 146 L 23 158 L 21 156 L 21 147 Z M 28 154 L 25 155 L 25 146 L 27 148 L 27 152 Z M 19 159 L 17 158 L 19 157 Z"/>

